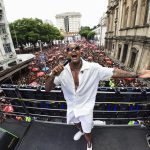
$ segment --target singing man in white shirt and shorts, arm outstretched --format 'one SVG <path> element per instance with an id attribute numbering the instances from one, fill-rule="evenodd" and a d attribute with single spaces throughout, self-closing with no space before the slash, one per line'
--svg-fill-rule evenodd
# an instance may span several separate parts
<path id="1" fill-rule="evenodd" d="M 87 150 L 92 150 L 93 109 L 100 80 L 113 78 L 150 78 L 150 70 L 139 74 L 117 68 L 102 67 L 98 63 L 82 59 L 80 47 L 72 43 L 67 48 L 71 62 L 66 66 L 59 64 L 46 78 L 46 91 L 61 85 L 67 103 L 67 123 L 74 122 L 79 129 L 74 140 L 82 135 L 87 141 Z"/>

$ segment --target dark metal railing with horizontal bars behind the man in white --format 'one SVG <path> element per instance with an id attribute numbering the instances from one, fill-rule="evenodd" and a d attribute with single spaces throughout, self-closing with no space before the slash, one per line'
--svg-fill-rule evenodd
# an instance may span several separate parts
<path id="1" fill-rule="evenodd" d="M 10 105 L 11 116 L 30 116 L 33 119 L 66 122 L 66 102 L 60 87 L 45 92 L 43 86 L 1 85 L 4 96 L 1 105 Z M 99 87 L 94 108 L 94 120 L 127 123 L 146 120 L 150 116 L 150 88 Z"/>

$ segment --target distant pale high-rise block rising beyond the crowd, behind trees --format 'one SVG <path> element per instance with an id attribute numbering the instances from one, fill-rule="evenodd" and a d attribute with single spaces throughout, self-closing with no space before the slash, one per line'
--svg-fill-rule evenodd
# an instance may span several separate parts
<path id="1" fill-rule="evenodd" d="M 56 15 L 57 26 L 67 34 L 76 34 L 81 28 L 81 14 L 79 12 L 66 12 Z"/>

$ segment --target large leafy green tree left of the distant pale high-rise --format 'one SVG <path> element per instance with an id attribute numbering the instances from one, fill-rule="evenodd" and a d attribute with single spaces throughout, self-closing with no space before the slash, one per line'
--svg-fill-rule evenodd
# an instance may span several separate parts
<path id="1" fill-rule="evenodd" d="M 17 45 L 17 41 L 18 44 L 22 46 L 26 43 L 35 45 L 38 40 L 49 43 L 54 39 L 63 39 L 63 36 L 56 27 L 48 23 L 43 23 L 43 21 L 38 18 L 18 19 L 10 23 L 9 26 L 15 46 Z"/>

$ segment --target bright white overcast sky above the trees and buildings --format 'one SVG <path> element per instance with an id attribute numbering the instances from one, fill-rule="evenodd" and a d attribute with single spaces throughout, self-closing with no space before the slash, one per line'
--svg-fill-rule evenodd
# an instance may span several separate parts
<path id="1" fill-rule="evenodd" d="M 8 22 L 22 18 L 51 20 L 56 14 L 80 12 L 81 26 L 93 27 L 106 12 L 108 0 L 3 0 Z"/>

